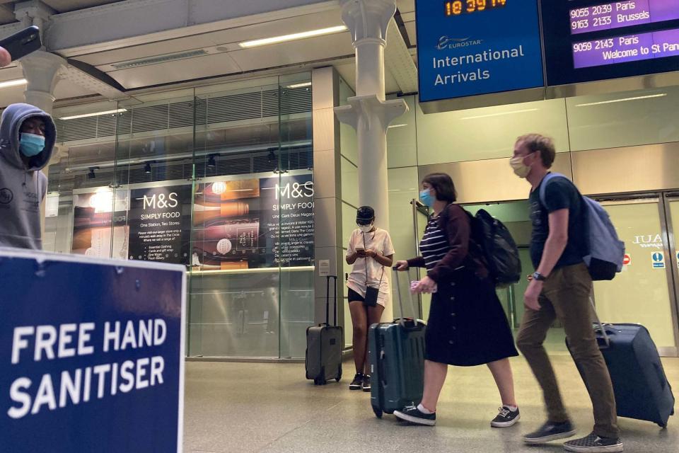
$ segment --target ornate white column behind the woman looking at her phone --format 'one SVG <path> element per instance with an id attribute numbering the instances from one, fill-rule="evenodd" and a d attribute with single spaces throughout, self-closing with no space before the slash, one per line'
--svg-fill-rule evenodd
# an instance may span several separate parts
<path id="1" fill-rule="evenodd" d="M 402 99 L 385 101 L 384 48 L 394 0 L 341 0 L 342 20 L 356 50 L 356 96 L 335 108 L 337 118 L 356 129 L 359 150 L 359 203 L 375 209 L 376 223 L 389 230 L 387 127 L 407 111 Z M 383 319 L 393 319 L 388 305 Z"/>

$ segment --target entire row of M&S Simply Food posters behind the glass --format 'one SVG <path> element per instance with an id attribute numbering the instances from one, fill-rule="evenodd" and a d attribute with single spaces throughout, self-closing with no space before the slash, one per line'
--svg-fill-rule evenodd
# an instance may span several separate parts
<path id="1" fill-rule="evenodd" d="M 313 265 L 313 176 L 75 195 L 73 253 L 194 270 Z M 192 202 L 193 201 L 193 202 Z M 111 255 L 112 252 L 112 255 Z"/>

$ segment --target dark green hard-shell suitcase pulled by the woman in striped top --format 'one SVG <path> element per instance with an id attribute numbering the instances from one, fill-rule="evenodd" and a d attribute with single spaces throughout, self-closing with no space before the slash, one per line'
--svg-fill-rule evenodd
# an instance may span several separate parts
<path id="1" fill-rule="evenodd" d="M 373 324 L 368 331 L 370 399 L 378 418 L 419 403 L 424 389 L 424 322 L 403 316 L 398 272 L 395 275 L 401 317 Z"/>

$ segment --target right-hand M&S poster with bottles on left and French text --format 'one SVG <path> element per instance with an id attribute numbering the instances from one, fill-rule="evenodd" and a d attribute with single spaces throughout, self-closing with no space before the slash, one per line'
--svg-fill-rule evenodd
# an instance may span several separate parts
<path id="1" fill-rule="evenodd" d="M 313 265 L 312 176 L 199 185 L 193 227 L 200 270 Z"/>

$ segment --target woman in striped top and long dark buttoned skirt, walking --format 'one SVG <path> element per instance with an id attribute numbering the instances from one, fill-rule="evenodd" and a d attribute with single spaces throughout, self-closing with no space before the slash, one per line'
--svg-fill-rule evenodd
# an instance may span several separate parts
<path id="1" fill-rule="evenodd" d="M 488 365 L 502 400 L 491 425 L 505 428 L 519 419 L 508 357 L 518 355 L 511 329 L 489 278 L 486 260 L 471 235 L 469 214 L 455 204 L 450 176 L 422 181 L 420 199 L 433 208 L 420 243 L 422 256 L 396 263 L 399 270 L 426 268 L 414 292 L 432 293 L 425 333 L 424 394 L 418 406 L 395 411 L 402 420 L 436 423 L 436 403 L 448 365 Z"/>

